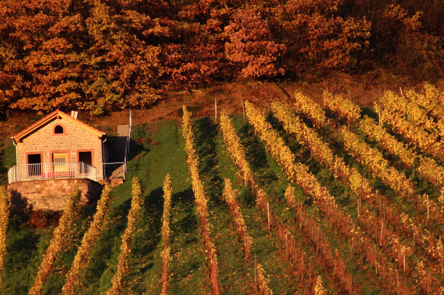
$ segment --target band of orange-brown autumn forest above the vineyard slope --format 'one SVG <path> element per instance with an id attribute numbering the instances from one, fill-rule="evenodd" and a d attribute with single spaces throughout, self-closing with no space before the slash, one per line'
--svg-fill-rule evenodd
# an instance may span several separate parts
<path id="1" fill-rule="evenodd" d="M 0 109 L 98 115 L 331 70 L 438 78 L 443 15 L 434 0 L 0 0 Z"/>

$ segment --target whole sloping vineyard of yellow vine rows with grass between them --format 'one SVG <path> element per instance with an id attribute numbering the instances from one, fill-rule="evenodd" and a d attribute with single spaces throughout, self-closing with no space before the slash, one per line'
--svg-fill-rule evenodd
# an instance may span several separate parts
<path id="1" fill-rule="evenodd" d="M 241 110 L 135 127 L 126 183 L 46 226 L 2 187 L 1 292 L 444 293 L 444 94 Z"/>

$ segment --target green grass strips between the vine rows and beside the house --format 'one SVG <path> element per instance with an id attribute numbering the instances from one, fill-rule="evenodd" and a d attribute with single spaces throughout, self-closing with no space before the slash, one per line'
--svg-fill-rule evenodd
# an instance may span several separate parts
<path id="1" fill-rule="evenodd" d="M 297 162 L 304 162 L 310 171 L 325 185 L 341 208 L 356 221 L 357 210 L 354 205 L 355 194 L 348 187 L 334 180 L 329 171 L 316 160 L 310 158 L 307 148 L 295 142 L 282 131 L 279 124 L 268 117 L 273 126 L 287 141 Z M 294 213 L 287 209 L 284 191 L 290 185 L 280 165 L 266 151 L 263 142 L 254 134 L 253 129 L 244 124 L 241 116 L 232 117 L 241 142 L 244 144 L 246 157 L 255 173 L 257 183 L 262 186 L 271 203 L 274 214 L 291 228 L 298 246 L 307 254 L 307 261 L 314 267 L 329 290 L 330 294 L 341 292 L 316 249 L 305 243 L 305 239 L 295 224 Z M 200 238 L 200 228 L 196 218 L 194 194 L 185 162 L 184 140 L 178 121 L 162 121 L 141 126 L 134 126 L 133 141 L 130 146 L 127 181 L 115 187 L 112 192 L 112 208 L 103 234 L 92 251 L 92 258 L 82 278 L 82 294 L 105 294 L 111 286 L 111 280 L 117 270 L 117 258 L 120 253 L 121 235 L 126 228 L 127 214 L 131 202 L 130 179 L 138 177 L 143 188 L 144 205 L 137 222 L 137 233 L 130 252 L 129 269 L 123 283 L 122 294 L 158 294 L 160 292 L 162 259 L 161 219 L 163 210 L 163 180 L 167 173 L 171 175 L 173 198 L 171 208 L 171 255 L 169 267 L 169 294 L 209 294 L 211 292 L 209 273 L 205 261 L 205 251 Z M 211 237 L 217 251 L 218 279 L 221 294 L 252 294 L 254 291 L 254 261 L 246 261 L 242 245 L 237 240 L 228 208 L 222 199 L 223 178 L 230 178 L 239 191 L 238 200 L 244 214 L 248 234 L 253 237 L 252 254 L 269 276 L 270 287 L 275 294 L 295 294 L 304 288 L 300 278 L 296 278 L 291 264 L 285 262 L 280 254 L 280 244 L 273 230 L 268 230 L 266 219 L 257 211 L 249 189 L 239 181 L 237 167 L 230 162 L 230 155 L 225 149 L 221 130 L 212 118 L 194 119 L 195 149 L 200 157 L 200 178 L 208 198 Z M 350 167 L 370 178 L 371 174 L 349 155 L 343 153 L 341 142 L 327 136 L 323 138 L 334 147 L 339 156 L 345 158 Z M 15 147 L 8 140 L 0 149 L 0 171 L 4 175 L 7 167 L 15 164 Z M 2 176 L 3 177 L 3 176 Z M 6 178 L 2 178 L 3 181 Z M 427 183 L 418 180 L 418 192 L 429 188 Z M 392 201 L 397 197 L 380 180 L 372 182 L 378 189 L 384 190 Z M 293 184 L 292 184 L 293 185 Z M 386 292 L 384 282 L 374 275 L 374 270 L 366 267 L 360 255 L 352 253 L 350 245 L 343 242 L 341 235 L 331 228 L 329 221 L 318 212 L 315 205 L 303 194 L 297 185 L 296 198 L 302 200 L 307 213 L 312 214 L 321 225 L 330 243 L 339 249 L 347 268 L 365 294 Z M 398 204 L 403 205 L 403 204 Z M 414 208 L 409 209 L 411 214 Z M 44 285 L 43 294 L 59 294 L 65 276 L 71 266 L 80 240 L 94 214 L 94 206 L 85 206 L 76 220 L 74 229 L 67 239 L 64 251 L 60 253 L 53 266 L 51 276 Z M 29 219 L 15 216 L 10 220 L 7 237 L 7 253 L 2 273 L 4 294 L 27 294 L 35 280 L 35 273 L 42 262 L 44 249 L 51 239 L 53 227 L 30 229 Z M 438 230 L 439 227 L 434 228 Z M 378 287 L 382 286 L 382 287 Z"/>

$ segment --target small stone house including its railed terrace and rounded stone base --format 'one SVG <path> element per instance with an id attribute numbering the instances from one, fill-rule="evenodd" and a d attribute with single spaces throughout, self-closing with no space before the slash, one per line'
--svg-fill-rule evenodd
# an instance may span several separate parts
<path id="1" fill-rule="evenodd" d="M 105 133 L 60 110 L 12 137 L 17 165 L 8 171 L 11 203 L 34 209 L 63 210 L 74 186 L 83 203 L 100 196 L 108 163 Z"/>

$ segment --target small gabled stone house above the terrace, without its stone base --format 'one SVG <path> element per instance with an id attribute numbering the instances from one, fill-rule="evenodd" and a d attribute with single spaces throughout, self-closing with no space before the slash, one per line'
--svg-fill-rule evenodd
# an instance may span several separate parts
<path id="1" fill-rule="evenodd" d="M 65 112 L 56 110 L 12 137 L 17 146 L 17 166 L 54 163 L 51 171 L 36 168 L 31 174 L 44 177 L 73 173 L 78 167 L 67 163 L 84 162 L 96 168 L 96 179 L 103 178 L 102 163 L 108 162 L 105 133 Z M 65 163 L 65 164 L 63 164 Z M 37 167 L 37 166 L 36 166 Z M 40 170 L 42 171 L 40 171 Z M 80 171 L 75 171 L 80 172 Z"/>

